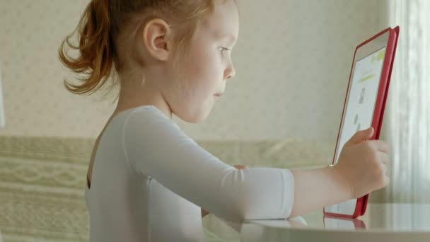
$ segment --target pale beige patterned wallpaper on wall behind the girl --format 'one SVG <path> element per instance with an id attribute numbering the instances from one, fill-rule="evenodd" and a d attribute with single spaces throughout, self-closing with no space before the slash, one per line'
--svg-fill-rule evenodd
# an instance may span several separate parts
<path id="1" fill-rule="evenodd" d="M 236 78 L 194 139 L 335 142 L 354 47 L 386 27 L 386 0 L 242 0 Z M 74 96 L 57 59 L 87 0 L 0 0 L 1 135 L 95 137 L 115 108 Z M 269 3 L 269 4 L 268 4 Z"/>

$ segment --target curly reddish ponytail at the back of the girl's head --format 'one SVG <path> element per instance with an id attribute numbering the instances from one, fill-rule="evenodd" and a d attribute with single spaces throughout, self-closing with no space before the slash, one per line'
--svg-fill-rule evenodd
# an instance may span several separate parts
<path id="1" fill-rule="evenodd" d="M 71 43 L 76 31 L 79 31 L 78 46 Z M 67 47 L 79 50 L 79 57 L 71 57 Z M 76 74 L 84 75 L 79 78 L 81 84 L 64 80 L 64 86 L 75 94 L 94 93 L 108 81 L 115 56 L 108 0 L 93 0 L 83 12 L 76 30 L 67 35 L 59 47 L 62 64 Z"/>

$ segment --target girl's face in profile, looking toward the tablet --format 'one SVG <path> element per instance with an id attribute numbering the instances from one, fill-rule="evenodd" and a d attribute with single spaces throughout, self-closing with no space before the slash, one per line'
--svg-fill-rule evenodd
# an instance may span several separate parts
<path id="1" fill-rule="evenodd" d="M 187 57 L 178 59 L 182 78 L 165 93 L 172 112 L 182 120 L 204 120 L 226 90 L 226 80 L 235 75 L 231 49 L 238 30 L 238 11 L 231 0 L 216 4 L 214 12 L 198 25 Z"/>

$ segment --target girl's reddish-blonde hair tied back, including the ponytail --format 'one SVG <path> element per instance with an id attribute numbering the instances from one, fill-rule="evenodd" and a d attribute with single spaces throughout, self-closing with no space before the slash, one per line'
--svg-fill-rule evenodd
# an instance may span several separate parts
<path id="1" fill-rule="evenodd" d="M 129 29 L 139 28 L 153 18 L 163 18 L 169 25 L 183 26 L 175 35 L 176 56 L 185 53 L 194 34 L 197 23 L 214 11 L 216 0 L 91 0 L 86 6 L 78 26 L 67 35 L 59 47 L 59 59 L 65 67 L 76 74 L 80 84 L 64 80 L 64 86 L 75 94 L 94 93 L 106 81 L 112 72 L 120 73 L 124 66 L 118 53 L 117 41 Z M 128 25 L 139 26 L 128 26 Z M 127 27 L 128 26 L 128 27 Z M 79 45 L 74 45 L 71 38 L 78 31 Z M 79 50 L 74 58 L 67 49 Z M 139 64 L 144 64 L 139 57 L 133 56 Z"/>

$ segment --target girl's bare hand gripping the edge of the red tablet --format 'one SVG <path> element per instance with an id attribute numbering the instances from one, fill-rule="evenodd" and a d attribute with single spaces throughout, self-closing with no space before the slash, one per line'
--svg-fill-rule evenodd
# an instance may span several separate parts
<path id="1" fill-rule="evenodd" d="M 373 127 L 356 132 L 342 148 L 333 167 L 354 198 L 384 188 L 389 183 L 388 146 L 380 140 L 368 140 L 372 135 Z"/>

